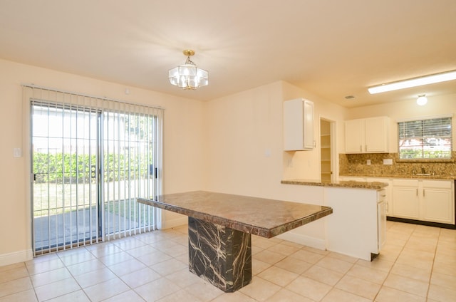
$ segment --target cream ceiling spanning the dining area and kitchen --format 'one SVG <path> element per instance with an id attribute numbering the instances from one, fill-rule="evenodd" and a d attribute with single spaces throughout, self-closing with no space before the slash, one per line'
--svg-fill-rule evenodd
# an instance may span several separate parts
<path id="1" fill-rule="evenodd" d="M 208 86 L 168 82 L 185 48 Z M 0 58 L 198 100 L 285 80 L 353 108 L 456 93 L 367 92 L 456 70 L 456 1 L 0 0 Z"/>

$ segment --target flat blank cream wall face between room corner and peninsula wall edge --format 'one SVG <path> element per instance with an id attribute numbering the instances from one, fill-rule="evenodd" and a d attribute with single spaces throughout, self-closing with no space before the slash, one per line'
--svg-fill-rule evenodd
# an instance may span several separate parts
<path id="1" fill-rule="evenodd" d="M 207 189 L 271 196 L 280 184 L 281 82 L 206 104 Z"/>

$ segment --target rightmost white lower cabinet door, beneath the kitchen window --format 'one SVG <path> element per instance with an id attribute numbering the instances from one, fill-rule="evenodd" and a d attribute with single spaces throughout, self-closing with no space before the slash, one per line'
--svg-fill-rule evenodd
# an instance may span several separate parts
<path id="1" fill-rule="evenodd" d="M 423 187 L 423 220 L 454 224 L 451 189 Z"/>

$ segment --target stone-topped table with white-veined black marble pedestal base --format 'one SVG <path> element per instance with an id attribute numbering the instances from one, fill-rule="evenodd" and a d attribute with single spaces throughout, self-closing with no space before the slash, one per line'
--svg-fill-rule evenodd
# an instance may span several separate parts
<path id="1" fill-rule="evenodd" d="M 204 191 L 138 202 L 189 217 L 189 269 L 225 292 L 252 281 L 251 234 L 271 238 L 333 212 L 316 204 Z"/>

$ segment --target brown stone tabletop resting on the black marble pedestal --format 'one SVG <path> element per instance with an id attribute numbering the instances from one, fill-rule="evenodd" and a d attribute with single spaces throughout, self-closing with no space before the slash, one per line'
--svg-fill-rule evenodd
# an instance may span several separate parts
<path id="1" fill-rule="evenodd" d="M 214 192 L 165 194 L 138 202 L 271 238 L 333 212 L 331 207 Z"/>

